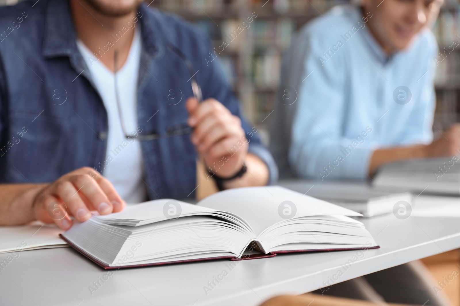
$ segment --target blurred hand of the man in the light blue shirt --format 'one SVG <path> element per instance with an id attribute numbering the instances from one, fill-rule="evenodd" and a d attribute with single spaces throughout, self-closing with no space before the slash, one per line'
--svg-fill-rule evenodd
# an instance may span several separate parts
<path id="1" fill-rule="evenodd" d="M 460 123 L 452 125 L 447 133 L 426 146 L 427 157 L 460 155 Z"/>

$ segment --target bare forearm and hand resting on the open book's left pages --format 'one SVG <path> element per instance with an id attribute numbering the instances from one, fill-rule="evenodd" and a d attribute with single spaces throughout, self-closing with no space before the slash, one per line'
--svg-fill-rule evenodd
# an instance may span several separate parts
<path id="1" fill-rule="evenodd" d="M 0 225 L 20 225 L 33 220 L 72 225 L 70 216 L 83 222 L 90 211 L 102 215 L 121 211 L 126 202 L 99 172 L 82 167 L 48 184 L 0 184 Z"/>

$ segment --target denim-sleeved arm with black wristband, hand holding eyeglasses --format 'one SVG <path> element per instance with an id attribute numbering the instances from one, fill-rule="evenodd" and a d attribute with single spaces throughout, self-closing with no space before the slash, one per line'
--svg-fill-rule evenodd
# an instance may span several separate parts
<path id="1" fill-rule="evenodd" d="M 239 101 L 225 78 L 218 58 L 209 57 L 213 50 L 209 39 L 196 32 L 196 46 L 189 55 L 201 85 L 204 101 L 187 100 L 189 124 L 194 128 L 192 143 L 203 157 L 207 169 L 220 178 L 230 178 L 243 167 L 241 178 L 224 182 L 224 188 L 275 184 L 278 168 L 270 150 L 261 144 L 257 129 L 250 126 Z"/>

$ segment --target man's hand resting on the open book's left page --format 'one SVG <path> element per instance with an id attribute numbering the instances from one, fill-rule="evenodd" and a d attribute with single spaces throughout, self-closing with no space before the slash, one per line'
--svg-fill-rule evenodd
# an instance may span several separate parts
<path id="1" fill-rule="evenodd" d="M 125 206 L 126 202 L 106 178 L 93 168 L 82 167 L 37 193 L 32 209 L 35 219 L 69 229 L 72 226 L 70 216 L 83 222 L 91 217 L 90 211 L 107 215 Z"/>

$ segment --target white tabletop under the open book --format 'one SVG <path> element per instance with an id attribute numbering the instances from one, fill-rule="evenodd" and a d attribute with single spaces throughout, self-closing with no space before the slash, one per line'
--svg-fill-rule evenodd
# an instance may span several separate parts
<path id="1" fill-rule="evenodd" d="M 356 278 L 388 267 L 460 247 L 459 218 L 391 215 L 362 219 L 380 249 L 367 250 L 349 267 L 357 251 L 278 255 L 236 261 L 203 261 L 115 271 L 91 295 L 89 286 L 104 270 L 71 248 L 23 251 L 0 271 L 0 305 L 259 305 L 278 294 L 301 294 L 323 282 Z M 8 254 L 0 254 L 0 261 Z M 206 295 L 204 286 L 223 270 Z M 335 275 L 335 277 L 334 277 Z M 332 284 L 329 281 L 329 284 Z M 210 287 L 209 287 L 210 288 Z"/>

